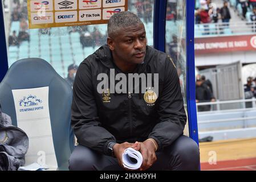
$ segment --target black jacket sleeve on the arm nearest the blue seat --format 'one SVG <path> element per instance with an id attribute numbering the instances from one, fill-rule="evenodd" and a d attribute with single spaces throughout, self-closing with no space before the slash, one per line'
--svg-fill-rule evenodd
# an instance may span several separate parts
<path id="1" fill-rule="evenodd" d="M 103 154 L 107 154 L 109 142 L 115 137 L 101 127 L 92 86 L 92 71 L 85 61 L 79 65 L 73 85 L 71 125 L 78 143 Z"/>

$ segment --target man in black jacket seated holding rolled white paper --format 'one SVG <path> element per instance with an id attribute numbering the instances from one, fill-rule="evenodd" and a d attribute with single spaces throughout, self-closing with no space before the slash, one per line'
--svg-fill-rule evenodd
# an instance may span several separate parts
<path id="1" fill-rule="evenodd" d="M 70 170 L 118 170 L 126 148 L 139 170 L 198 170 L 199 149 L 183 135 L 186 114 L 172 59 L 147 46 L 143 22 L 124 11 L 108 22 L 107 45 L 76 73 L 72 128 L 78 138 Z"/>

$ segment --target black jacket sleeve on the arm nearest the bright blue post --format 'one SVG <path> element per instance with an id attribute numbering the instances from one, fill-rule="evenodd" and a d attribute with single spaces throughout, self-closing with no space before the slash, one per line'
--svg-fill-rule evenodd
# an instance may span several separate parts
<path id="1" fill-rule="evenodd" d="M 164 85 L 158 100 L 159 122 L 148 138 L 155 139 L 161 150 L 183 134 L 186 124 L 180 78 L 169 58 L 165 60 Z"/>

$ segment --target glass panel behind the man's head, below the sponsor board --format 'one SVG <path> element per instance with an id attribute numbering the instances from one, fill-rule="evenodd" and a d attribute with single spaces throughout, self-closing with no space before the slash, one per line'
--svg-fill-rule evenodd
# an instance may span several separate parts
<path id="1" fill-rule="evenodd" d="M 9 35 L 9 67 L 15 61 L 40 57 L 67 77 L 68 66 L 79 65 L 107 40 L 107 24 L 89 26 L 29 29 L 27 0 L 8 0 L 5 14 L 6 35 Z M 128 10 L 140 16 L 147 31 L 148 45 L 153 46 L 154 1 L 128 1 Z"/>

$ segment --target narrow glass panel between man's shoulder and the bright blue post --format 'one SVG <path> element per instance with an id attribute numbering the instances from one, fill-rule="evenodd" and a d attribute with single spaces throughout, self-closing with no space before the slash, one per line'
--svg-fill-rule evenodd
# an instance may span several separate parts
<path id="1" fill-rule="evenodd" d="M 165 51 L 176 65 L 186 109 L 186 1 L 168 0 L 166 6 Z M 187 125 L 188 126 L 188 125 Z M 184 134 L 188 135 L 188 127 Z"/>

